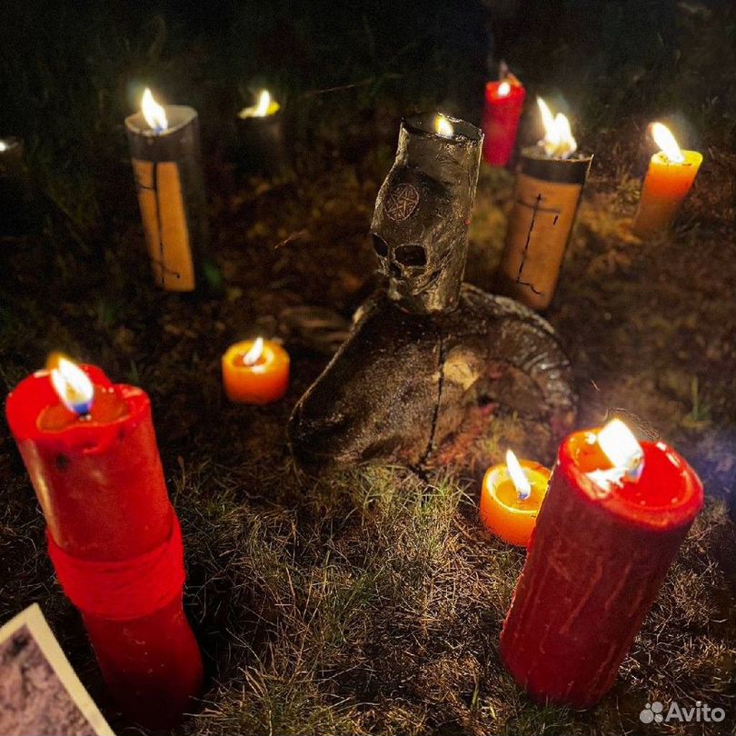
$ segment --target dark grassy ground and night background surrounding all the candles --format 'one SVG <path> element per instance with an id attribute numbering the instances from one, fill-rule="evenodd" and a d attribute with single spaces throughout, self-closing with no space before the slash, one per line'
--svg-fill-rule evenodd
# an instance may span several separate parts
<path id="1" fill-rule="evenodd" d="M 519 144 L 539 138 L 542 94 L 595 155 L 545 313 L 571 357 L 578 424 L 622 410 L 653 426 L 709 497 L 619 681 L 586 712 L 533 704 L 499 661 L 524 554 L 482 530 L 466 467 L 434 469 L 429 489 L 393 467 L 304 481 L 285 438 L 334 348 L 308 309 L 343 337 L 373 285 L 371 214 L 401 117 L 480 124 L 502 59 L 527 89 Z M 30 232 L 0 236 L 0 378 L 10 391 L 61 349 L 151 396 L 208 676 L 175 733 L 644 733 L 644 703 L 674 698 L 732 722 L 734 69 L 732 0 L 5 3 L 0 136 L 25 140 L 35 202 Z M 214 292 L 151 278 L 124 133 L 144 86 L 200 115 Z M 235 114 L 263 86 L 283 104 L 284 181 L 237 158 Z M 629 228 L 655 119 L 704 161 L 671 233 L 642 243 Z M 512 169 L 483 166 L 466 280 L 485 289 L 512 185 Z M 283 338 L 292 384 L 279 403 L 236 406 L 220 356 L 256 333 Z M 500 407 L 465 464 L 509 444 L 552 463 L 549 441 Z M 114 730 L 147 732 L 104 691 L 5 424 L 0 488 L 0 622 L 40 602 Z"/>

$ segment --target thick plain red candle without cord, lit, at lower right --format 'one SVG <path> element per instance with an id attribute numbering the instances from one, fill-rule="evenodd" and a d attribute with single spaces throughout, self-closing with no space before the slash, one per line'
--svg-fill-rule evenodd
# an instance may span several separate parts
<path id="1" fill-rule="evenodd" d="M 688 463 L 618 420 L 562 443 L 501 634 L 532 698 L 587 708 L 612 687 L 701 506 Z"/>

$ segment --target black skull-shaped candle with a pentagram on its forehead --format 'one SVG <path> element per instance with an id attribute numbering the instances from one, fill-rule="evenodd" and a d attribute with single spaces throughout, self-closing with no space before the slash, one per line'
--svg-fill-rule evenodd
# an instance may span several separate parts
<path id="1" fill-rule="evenodd" d="M 458 303 L 481 145 L 482 132 L 463 120 L 422 114 L 402 121 L 371 232 L 388 295 L 408 312 Z"/>

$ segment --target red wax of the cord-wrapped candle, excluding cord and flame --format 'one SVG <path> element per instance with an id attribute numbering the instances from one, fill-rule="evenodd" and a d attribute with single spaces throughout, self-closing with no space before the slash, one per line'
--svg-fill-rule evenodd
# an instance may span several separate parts
<path id="1" fill-rule="evenodd" d="M 99 368 L 80 367 L 95 390 L 124 404 L 124 413 L 49 431 L 39 420 L 58 413 L 59 399 L 48 374 L 36 373 L 8 396 L 7 420 L 55 544 L 78 560 L 124 562 L 155 550 L 171 532 L 151 403 Z M 174 725 L 202 684 L 181 594 L 132 621 L 83 617 L 104 679 L 127 715 L 151 728 Z"/>

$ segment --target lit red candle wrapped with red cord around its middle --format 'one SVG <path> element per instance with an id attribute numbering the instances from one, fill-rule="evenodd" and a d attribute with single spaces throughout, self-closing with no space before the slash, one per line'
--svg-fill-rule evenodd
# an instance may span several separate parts
<path id="1" fill-rule="evenodd" d="M 130 718 L 174 725 L 200 691 L 202 659 L 148 396 L 67 362 L 21 382 L 6 413 L 104 680 Z"/>

